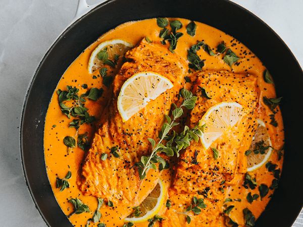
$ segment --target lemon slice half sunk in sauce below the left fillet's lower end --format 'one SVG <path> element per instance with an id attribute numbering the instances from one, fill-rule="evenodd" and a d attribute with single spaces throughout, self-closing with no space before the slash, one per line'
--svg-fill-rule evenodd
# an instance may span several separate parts
<path id="1" fill-rule="evenodd" d="M 133 214 L 124 218 L 124 221 L 143 222 L 154 217 L 164 206 L 166 188 L 162 180 L 159 179 L 155 189 L 143 200 L 139 206 L 141 214 L 135 217 Z"/>

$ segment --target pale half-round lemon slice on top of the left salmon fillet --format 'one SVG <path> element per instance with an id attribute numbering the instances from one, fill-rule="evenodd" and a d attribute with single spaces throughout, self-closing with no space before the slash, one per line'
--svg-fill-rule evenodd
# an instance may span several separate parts
<path id="1" fill-rule="evenodd" d="M 173 86 L 169 79 L 154 72 L 137 73 L 128 78 L 118 96 L 118 110 L 123 122 Z"/>

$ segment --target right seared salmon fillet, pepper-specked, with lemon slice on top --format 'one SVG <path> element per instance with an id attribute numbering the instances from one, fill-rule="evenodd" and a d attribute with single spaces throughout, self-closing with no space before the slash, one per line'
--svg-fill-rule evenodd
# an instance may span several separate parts
<path id="1" fill-rule="evenodd" d="M 191 226 L 223 226 L 223 202 L 226 197 L 226 187 L 233 184 L 236 172 L 241 172 L 246 166 L 244 152 L 249 148 L 254 135 L 256 119 L 254 110 L 257 105 L 257 78 L 251 75 L 234 74 L 230 72 L 198 73 L 192 88 L 198 97 L 191 111 L 190 127 L 198 124 L 204 113 L 215 104 L 223 101 L 238 102 L 245 109 L 245 115 L 238 123 L 218 138 L 211 147 L 219 151 L 215 160 L 213 151 L 205 149 L 201 142 L 192 142 L 180 155 L 174 190 L 170 191 L 169 199 L 172 207 L 164 217 L 163 226 L 185 226 L 185 209 L 192 203 L 193 197 L 203 198 L 207 207 L 201 209 L 201 214 L 187 214 L 191 217 Z M 202 93 L 204 88 L 211 97 L 207 99 Z M 217 218 L 214 218 L 217 217 Z M 178 221 L 176 221 L 178 220 Z"/>

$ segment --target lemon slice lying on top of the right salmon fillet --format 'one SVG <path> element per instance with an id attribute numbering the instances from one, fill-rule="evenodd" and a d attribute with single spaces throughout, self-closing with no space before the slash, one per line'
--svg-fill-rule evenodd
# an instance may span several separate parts
<path id="1" fill-rule="evenodd" d="M 208 149 L 211 144 L 243 117 L 244 108 L 237 102 L 220 102 L 209 108 L 200 120 L 205 124 L 201 143 Z"/>

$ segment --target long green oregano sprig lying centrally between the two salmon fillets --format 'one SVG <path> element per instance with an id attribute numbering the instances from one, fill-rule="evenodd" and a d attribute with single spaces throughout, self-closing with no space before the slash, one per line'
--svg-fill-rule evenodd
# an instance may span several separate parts
<path id="1" fill-rule="evenodd" d="M 197 100 L 197 97 L 186 89 L 181 90 L 181 95 L 184 98 L 183 102 L 179 107 L 177 107 L 176 104 L 173 104 L 174 109 L 172 111 L 172 118 L 167 115 L 165 116 L 167 122 L 164 123 L 159 133 L 159 142 L 156 143 L 154 139 L 148 138 L 153 150 L 149 157 L 142 156 L 141 160 L 136 163 L 140 179 L 145 178 L 148 169 L 157 169 L 156 163 L 162 164 L 163 168 L 165 167 L 166 161 L 158 155 L 159 153 L 166 153 L 167 156 L 173 156 L 174 153 L 176 153 L 177 156 L 179 156 L 179 151 L 181 149 L 188 147 L 191 140 L 197 141 L 199 136 L 201 136 L 203 126 L 196 126 L 193 129 L 189 129 L 185 126 L 184 131 L 180 135 L 175 131 L 173 131 L 172 135 L 169 135 L 171 129 L 179 124 L 176 120 L 183 115 L 182 107 L 192 109 Z M 164 140 L 167 141 L 166 145 L 163 144 Z"/>

